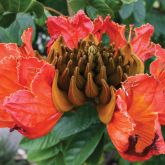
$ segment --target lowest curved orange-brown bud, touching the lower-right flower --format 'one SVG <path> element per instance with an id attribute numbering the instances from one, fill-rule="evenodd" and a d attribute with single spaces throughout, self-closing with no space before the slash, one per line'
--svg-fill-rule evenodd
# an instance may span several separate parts
<path id="1" fill-rule="evenodd" d="M 110 102 L 106 105 L 99 105 L 97 107 L 98 113 L 99 113 L 99 118 L 104 124 L 108 124 L 111 121 L 113 112 L 115 110 L 115 105 L 116 105 L 115 90 L 112 86 L 109 88 L 109 90 L 111 93 Z"/>

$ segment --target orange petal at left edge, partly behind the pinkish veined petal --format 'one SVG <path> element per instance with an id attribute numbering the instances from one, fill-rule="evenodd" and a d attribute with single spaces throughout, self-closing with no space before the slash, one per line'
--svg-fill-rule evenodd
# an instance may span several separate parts
<path id="1" fill-rule="evenodd" d="M 17 61 L 14 57 L 4 58 L 0 62 L 0 127 L 11 127 L 13 120 L 3 110 L 3 100 L 11 93 L 23 89 L 17 78 Z"/>

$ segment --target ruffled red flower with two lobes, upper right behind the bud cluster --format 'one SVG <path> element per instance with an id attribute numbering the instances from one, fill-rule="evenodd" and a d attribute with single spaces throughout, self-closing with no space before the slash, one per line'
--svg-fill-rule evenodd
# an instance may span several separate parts
<path id="1" fill-rule="evenodd" d="M 110 37 L 111 43 L 115 44 L 116 49 L 123 48 L 129 43 L 133 48 L 133 52 L 143 61 L 154 55 L 155 44 L 150 42 L 154 32 L 152 25 L 146 24 L 135 29 L 133 29 L 133 25 L 130 25 L 127 40 L 125 37 L 125 25 L 119 25 L 118 23 L 111 21 L 109 17 L 106 17 L 105 24 L 106 32 Z"/>

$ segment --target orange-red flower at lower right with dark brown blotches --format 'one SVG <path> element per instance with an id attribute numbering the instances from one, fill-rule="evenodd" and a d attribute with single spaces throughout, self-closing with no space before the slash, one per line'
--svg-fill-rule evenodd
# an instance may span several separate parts
<path id="1" fill-rule="evenodd" d="M 107 130 L 121 156 L 129 161 L 165 153 L 158 122 L 158 87 L 153 77 L 137 75 L 128 78 L 117 91 L 116 109 Z"/>

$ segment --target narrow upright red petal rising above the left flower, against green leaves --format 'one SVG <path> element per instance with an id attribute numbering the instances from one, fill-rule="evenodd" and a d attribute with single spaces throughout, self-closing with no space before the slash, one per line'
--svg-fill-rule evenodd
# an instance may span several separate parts
<path id="1" fill-rule="evenodd" d="M 23 57 L 34 57 L 35 53 L 32 47 L 32 27 L 25 30 L 21 36 L 23 46 L 20 48 Z"/>

